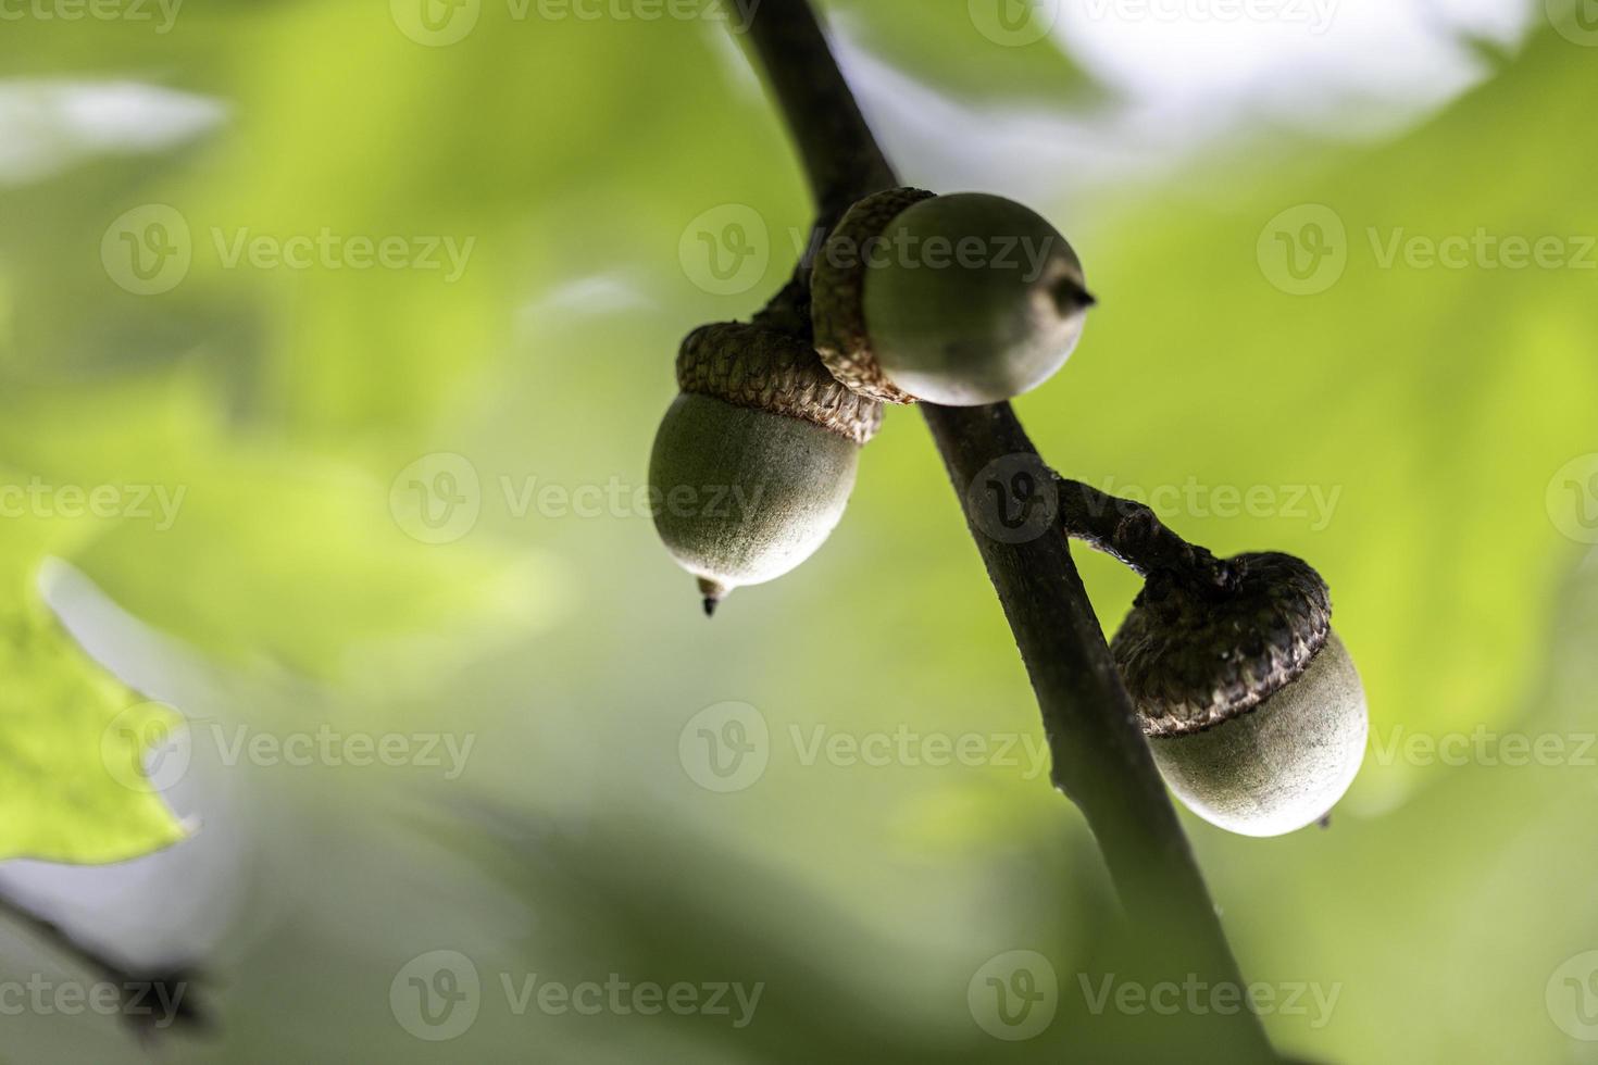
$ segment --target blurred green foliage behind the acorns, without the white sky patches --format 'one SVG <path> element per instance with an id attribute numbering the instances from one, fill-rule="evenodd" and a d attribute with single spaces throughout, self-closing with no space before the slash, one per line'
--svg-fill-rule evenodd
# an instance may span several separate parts
<path id="1" fill-rule="evenodd" d="M 968 107 L 1099 99 L 1051 45 L 996 48 L 962 5 L 834 6 L 876 59 Z M 1545 1003 L 1550 974 L 1598 947 L 1590 766 L 1401 755 L 1406 736 L 1593 730 L 1598 570 L 1545 490 L 1598 450 L 1595 273 L 1382 268 L 1366 241 L 1598 232 L 1595 56 L 1544 27 L 1387 142 L 1259 131 L 1152 184 L 1037 203 L 1103 300 L 1066 370 L 1020 401 L 1045 455 L 1112 489 L 1339 492 L 1323 529 L 1168 516 L 1218 551 L 1310 559 L 1366 679 L 1373 749 L 1330 832 L 1256 841 L 1186 819 L 1245 974 L 1341 987 L 1325 1027 L 1269 1019 L 1318 1060 L 1598 1060 Z M 1069 990 L 1107 920 L 1091 840 L 1043 779 L 804 765 L 777 739 L 754 787 L 718 795 L 678 762 L 684 723 L 729 699 L 778 738 L 1039 736 L 912 412 L 866 452 L 833 541 L 713 626 L 647 516 L 518 516 L 500 492 L 642 484 L 676 342 L 746 316 L 789 267 L 799 171 L 714 24 L 516 21 L 484 5 L 465 40 L 425 48 L 382 3 L 197 3 L 160 35 L 8 26 L 0 64 L 0 88 L 24 96 L 136 80 L 225 107 L 181 145 L 89 155 L 0 195 L 5 477 L 187 492 L 169 530 L 0 524 L 18 604 L 0 643 L 0 853 L 109 861 L 176 838 L 150 795 L 99 774 L 99 723 L 152 687 L 184 688 L 152 683 L 160 671 L 225 693 L 211 712 L 260 731 L 478 738 L 449 782 L 238 773 L 251 934 L 219 947 L 221 1035 L 179 1041 L 177 1060 L 815 1060 L 863 1043 L 884 1060 L 1098 1060 L 1099 1036 L 1069 1011 L 1012 1046 L 965 1008 L 970 974 L 1012 948 L 1050 955 Z M 996 160 L 1000 192 L 1004 174 Z M 99 257 L 107 225 L 145 203 L 195 232 L 189 276 L 157 297 L 118 289 Z M 761 286 L 713 297 L 679 238 L 729 203 L 765 219 L 773 254 Z M 1344 220 L 1349 263 L 1328 291 L 1288 295 L 1256 241 L 1306 203 Z M 211 227 L 476 243 L 444 283 L 224 268 Z M 465 455 L 484 485 L 479 522 L 447 544 L 390 514 L 393 479 L 433 452 Z M 126 690 L 99 675 L 42 615 L 32 575 L 51 556 L 129 632 L 169 637 L 160 669 L 118 669 Z M 1114 624 L 1131 578 L 1083 568 Z M 13 639 L 11 618 L 48 635 Z M 85 794 L 51 798 L 46 781 L 67 779 Z M 484 1008 L 433 1046 L 388 1011 L 393 974 L 433 948 L 484 974 L 769 988 L 745 1031 Z M 16 1060 L 134 1052 L 112 1022 L 16 1031 L 0 1044 Z"/>

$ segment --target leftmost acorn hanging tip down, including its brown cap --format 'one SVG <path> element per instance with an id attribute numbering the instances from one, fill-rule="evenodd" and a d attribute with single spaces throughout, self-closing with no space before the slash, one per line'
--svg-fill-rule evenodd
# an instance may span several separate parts
<path id="1" fill-rule="evenodd" d="M 655 529 L 698 578 L 705 613 L 809 559 L 844 514 L 882 406 L 804 340 L 759 324 L 695 329 L 649 460 Z"/>

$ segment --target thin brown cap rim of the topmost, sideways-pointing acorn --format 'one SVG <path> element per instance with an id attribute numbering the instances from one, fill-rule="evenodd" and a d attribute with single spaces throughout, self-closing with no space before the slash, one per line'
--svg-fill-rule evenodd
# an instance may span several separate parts
<path id="1" fill-rule="evenodd" d="M 815 350 L 833 377 L 882 402 L 916 398 L 887 378 L 866 334 L 866 251 L 908 208 L 932 200 L 925 188 L 888 188 L 866 196 L 833 228 L 810 273 Z"/>

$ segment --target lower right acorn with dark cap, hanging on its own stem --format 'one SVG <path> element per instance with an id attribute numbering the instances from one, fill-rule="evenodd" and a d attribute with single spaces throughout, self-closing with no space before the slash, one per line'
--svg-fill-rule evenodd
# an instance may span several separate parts
<path id="1" fill-rule="evenodd" d="M 1267 837 L 1326 818 L 1365 758 L 1365 688 L 1326 583 L 1240 554 L 1205 586 L 1155 570 L 1111 643 L 1154 762 L 1195 814 Z"/>

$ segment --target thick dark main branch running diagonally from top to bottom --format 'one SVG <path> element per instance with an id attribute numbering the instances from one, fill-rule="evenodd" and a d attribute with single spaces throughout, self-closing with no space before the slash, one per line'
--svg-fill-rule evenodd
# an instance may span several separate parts
<path id="1" fill-rule="evenodd" d="M 900 180 L 866 125 L 809 0 L 764 0 L 749 34 L 804 160 L 818 227 L 831 228 L 855 200 L 896 187 Z M 796 284 L 778 300 L 807 305 L 804 284 L 801 268 Z M 1053 490 L 1048 466 L 1010 404 L 972 409 L 922 404 L 922 415 L 1037 693 L 1055 786 L 1082 810 L 1127 917 L 1143 942 L 1159 944 L 1167 979 L 1194 974 L 1211 985 L 1243 987 L 1066 536 L 1053 522 L 1031 536 L 991 532 L 984 492 L 1004 493 L 1008 498 L 996 500 L 999 505 L 1026 513 L 1037 503 L 1032 493 L 1045 490 L 1045 484 Z M 1039 476 L 994 474 L 1016 468 L 1032 468 Z M 1278 1060 L 1253 1012 L 1245 1009 L 1216 1022 L 1229 1060 Z"/>

